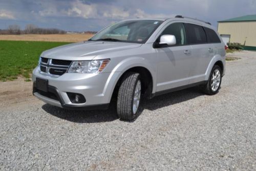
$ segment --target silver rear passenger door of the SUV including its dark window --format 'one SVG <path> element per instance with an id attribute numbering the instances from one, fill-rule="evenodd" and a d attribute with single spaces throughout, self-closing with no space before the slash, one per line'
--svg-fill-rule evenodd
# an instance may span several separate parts
<path id="1" fill-rule="evenodd" d="M 185 24 L 187 44 L 191 46 L 189 84 L 203 81 L 208 63 L 214 56 L 212 45 L 208 44 L 202 26 Z"/>

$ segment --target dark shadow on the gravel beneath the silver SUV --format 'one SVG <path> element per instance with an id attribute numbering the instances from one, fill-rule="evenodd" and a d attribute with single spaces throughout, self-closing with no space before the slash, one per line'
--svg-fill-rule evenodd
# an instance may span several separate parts
<path id="1" fill-rule="evenodd" d="M 199 96 L 204 95 L 201 91 L 195 88 L 189 88 L 173 93 L 168 93 L 154 97 L 153 99 L 144 100 L 139 111 L 139 115 L 146 110 L 157 110 L 165 106 L 181 103 Z M 61 119 L 65 119 L 76 123 L 98 123 L 98 122 L 111 122 L 119 119 L 116 114 L 115 102 L 112 102 L 108 110 L 95 110 L 95 111 L 73 111 L 61 109 L 50 104 L 42 105 L 42 109 Z M 139 117 L 139 116 L 138 116 Z M 133 122 L 133 121 L 130 121 Z"/>

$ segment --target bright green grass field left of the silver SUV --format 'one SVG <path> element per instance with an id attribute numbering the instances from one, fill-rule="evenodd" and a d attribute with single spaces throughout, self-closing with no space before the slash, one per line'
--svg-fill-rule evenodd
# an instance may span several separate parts
<path id="1" fill-rule="evenodd" d="M 0 81 L 23 76 L 29 81 L 42 51 L 70 42 L 0 40 Z"/>

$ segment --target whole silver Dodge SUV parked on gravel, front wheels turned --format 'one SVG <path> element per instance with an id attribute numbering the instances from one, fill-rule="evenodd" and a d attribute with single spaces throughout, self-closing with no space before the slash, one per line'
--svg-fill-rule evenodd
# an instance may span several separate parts
<path id="1" fill-rule="evenodd" d="M 66 109 L 106 109 L 131 120 L 143 98 L 198 86 L 218 93 L 225 45 L 201 20 L 137 18 L 104 28 L 88 41 L 47 50 L 33 71 L 33 94 Z"/>

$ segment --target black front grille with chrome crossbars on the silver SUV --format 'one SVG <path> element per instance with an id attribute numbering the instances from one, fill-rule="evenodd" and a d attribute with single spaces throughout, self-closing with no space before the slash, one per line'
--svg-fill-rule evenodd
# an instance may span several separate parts
<path id="1" fill-rule="evenodd" d="M 58 77 L 69 69 L 72 60 L 49 59 L 41 57 L 40 73 Z"/>

